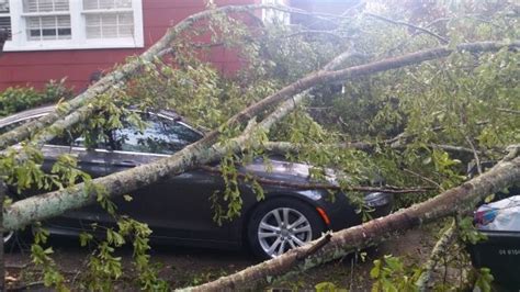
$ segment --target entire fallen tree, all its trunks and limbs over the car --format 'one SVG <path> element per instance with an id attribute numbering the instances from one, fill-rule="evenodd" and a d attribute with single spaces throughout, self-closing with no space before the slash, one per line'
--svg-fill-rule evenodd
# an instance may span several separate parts
<path id="1" fill-rule="evenodd" d="M 134 75 L 139 75 L 140 69 L 145 68 L 147 63 L 151 64 L 157 58 L 166 56 L 167 54 L 171 54 L 172 49 L 169 47 L 176 37 L 181 37 L 182 33 L 188 29 L 194 27 L 197 21 L 207 20 L 213 15 L 218 15 L 221 13 L 250 12 L 255 9 L 264 8 L 279 9 L 291 13 L 302 13 L 291 9 L 269 5 L 250 5 L 239 8 L 227 7 L 197 13 L 169 30 L 167 35 L 140 58 L 124 65 L 121 69 L 114 70 L 111 75 L 102 79 L 97 86 L 90 88 L 88 91 L 70 101 L 65 111 L 57 110 L 55 113 L 49 114 L 46 117 L 22 125 L 21 127 L 18 127 L 0 136 L 0 146 L 5 148 L 9 145 L 27 138 L 30 135 L 36 134 L 30 141 L 30 144 L 35 145 L 35 148 L 41 147 L 43 144 L 54 138 L 57 134 L 69 130 L 78 123 L 94 117 L 95 110 L 91 102 L 97 100 L 98 96 L 101 93 L 106 94 L 120 91 L 121 86 Z M 330 15 L 321 16 L 325 18 Z M 371 14 L 371 18 L 373 16 L 374 14 Z M 376 19 L 385 20 L 385 18 Z M 402 22 L 393 23 L 403 24 Z M 410 27 L 410 25 L 405 26 Z M 328 32 L 328 34 L 330 32 Z M 429 33 L 428 35 L 436 36 L 437 34 Z M 436 38 L 440 40 L 437 36 Z M 445 43 L 444 41 L 445 38 L 442 37 L 443 43 Z M 305 101 L 306 99 L 303 92 L 306 94 L 316 96 L 314 92 L 309 92 L 317 90 L 317 88 L 324 87 L 324 85 L 337 85 L 338 82 L 349 85 L 352 82 L 359 82 L 362 78 L 368 78 L 369 76 L 381 76 L 386 71 L 399 71 L 402 74 L 405 71 L 407 75 L 414 75 L 415 71 L 410 68 L 418 68 L 421 64 L 426 64 L 423 67 L 421 67 L 422 69 L 425 67 L 428 68 L 429 66 L 434 67 L 431 65 L 431 63 L 428 63 L 432 60 L 445 60 L 446 58 L 456 60 L 456 58 L 461 56 L 461 58 L 463 58 L 467 56 L 489 56 L 494 54 L 509 56 L 508 54 L 515 54 L 519 46 L 519 41 L 497 40 L 488 42 L 450 44 L 446 46 L 419 50 L 414 49 L 411 53 L 405 52 L 400 56 L 392 57 L 387 57 L 385 54 L 382 54 L 384 57 L 374 57 L 372 54 L 371 57 L 368 57 L 369 55 L 363 54 L 363 57 L 361 58 L 363 60 L 362 64 L 349 63 L 351 61 L 350 57 L 358 58 L 359 54 L 351 53 L 351 47 L 348 47 L 344 49 L 344 53 L 340 52 L 340 54 L 337 54 L 337 57 L 332 58 L 325 66 L 321 66 L 323 69 L 316 69 L 316 71 L 307 72 L 303 76 L 298 76 L 298 78 L 287 78 L 287 82 L 282 82 L 283 86 L 273 92 L 270 92 L 270 94 L 265 94 L 265 98 L 256 100 L 256 102 L 250 102 L 248 103 L 249 106 L 240 109 L 237 112 L 233 112 L 226 122 L 222 123 L 221 126 L 207 133 L 203 139 L 183 148 L 168 158 L 149 165 L 138 166 L 127 171 L 113 173 L 103 178 L 87 181 L 84 183 L 64 188 L 58 191 L 39 194 L 14 202 L 13 204 L 4 207 L 3 226 L 7 229 L 19 229 L 31 223 L 58 216 L 68 210 L 79 209 L 88 204 L 92 204 L 99 200 L 100 189 L 98 187 L 102 188 L 103 195 L 106 195 L 108 198 L 131 193 L 139 188 L 151 184 L 169 176 L 176 176 L 190 169 L 201 167 L 205 164 L 218 161 L 223 157 L 228 156 L 229 153 L 242 154 L 246 151 L 261 151 L 264 148 L 271 150 L 276 148 L 285 153 L 295 153 L 296 155 L 299 155 L 301 158 L 308 158 L 304 156 L 308 150 L 305 149 L 307 147 L 302 146 L 304 144 L 294 143 L 295 141 L 265 143 L 264 141 L 258 139 L 257 137 L 259 133 L 262 135 L 270 135 L 270 133 L 274 132 L 273 126 L 275 124 L 279 125 L 281 123 L 286 123 L 286 120 L 291 117 L 291 114 L 299 111 L 299 108 L 304 106 L 305 102 L 308 102 Z M 486 53 L 488 54 L 486 55 Z M 397 81 L 399 81 L 398 78 L 403 77 L 398 76 Z M 410 89 L 410 91 L 414 91 L 414 89 Z M 316 98 L 314 97 L 313 99 Z M 461 103 L 464 104 L 463 102 Z M 462 109 L 461 115 L 464 119 L 461 117 L 461 123 L 463 126 L 467 126 L 473 131 L 473 124 L 467 122 L 467 116 L 465 113 L 466 109 L 460 104 L 456 104 L 456 106 L 460 108 L 457 108 L 457 110 Z M 411 120 L 412 114 L 416 113 L 409 113 L 407 119 Z M 441 114 L 436 113 L 436 116 L 440 115 Z M 259 123 L 256 123 L 257 119 L 260 120 L 262 117 L 263 120 L 261 120 Z M 439 127 L 436 124 L 438 123 L 437 121 L 438 120 L 429 121 L 429 126 Z M 248 125 L 246 126 L 246 124 Z M 496 126 L 496 124 L 497 123 L 491 125 Z M 294 124 L 290 124 L 290 126 L 291 125 Z M 415 126 L 417 128 L 421 128 L 420 123 L 416 123 Z M 487 126 L 487 124 L 485 126 Z M 446 151 L 455 150 L 474 156 L 477 160 L 477 165 L 479 165 L 479 156 L 486 153 L 476 149 L 471 136 L 468 136 L 470 134 L 474 135 L 476 131 L 467 131 L 470 134 L 464 133 L 464 137 L 466 141 L 468 141 L 468 147 L 463 147 L 460 145 L 452 146 L 441 144 L 444 142 L 442 138 L 439 138 L 439 142 L 429 141 L 431 138 L 421 139 L 421 134 L 418 134 L 417 130 L 414 132 L 412 126 L 410 126 L 410 128 L 407 128 L 407 132 L 410 131 L 411 133 L 406 133 L 405 135 L 406 137 L 411 137 L 406 141 L 407 145 L 398 145 L 397 147 L 394 147 L 391 145 L 393 138 L 386 138 L 383 141 L 383 143 L 378 143 L 378 137 L 368 142 L 342 142 L 337 145 L 341 146 L 339 147 L 339 150 L 342 153 L 348 153 L 348 150 L 351 148 L 361 150 L 369 149 L 374 154 L 381 151 L 381 148 L 406 153 L 410 151 L 410 148 L 411 150 L 416 150 L 416 148 L 409 147 L 409 145 L 412 145 L 412 142 L 417 141 L 417 144 L 420 144 L 419 147 L 422 147 L 422 149 L 426 148 L 428 151 L 432 149 L 431 151 L 433 154 L 431 156 L 437 155 L 437 148 L 445 149 Z M 440 128 L 442 128 L 439 131 L 441 133 L 445 133 L 446 131 L 444 130 L 450 130 L 449 127 Z M 233 132 L 233 135 L 229 135 L 229 130 L 236 131 Z M 398 137 L 400 135 L 398 135 Z M 445 141 L 457 142 L 455 138 L 453 138 L 453 136 L 454 135 L 452 135 L 450 138 L 446 138 Z M 320 145 L 332 144 L 317 143 L 314 145 L 312 150 L 319 153 L 323 150 L 320 149 Z M 444 155 L 444 153 L 441 155 Z M 26 158 L 19 157 L 16 154 L 14 154 L 13 157 L 11 157 L 13 161 L 16 161 L 16 159 Z M 448 165 L 448 167 L 446 165 L 436 165 L 436 168 L 438 168 L 437 170 L 439 172 L 446 172 L 446 168 L 449 168 L 449 164 L 452 161 L 446 162 L 446 160 L 450 159 L 445 158 L 444 156 L 437 156 L 436 159 L 439 161 L 443 159 L 442 162 Z M 250 283 L 252 281 L 262 279 L 265 276 L 280 276 L 290 271 L 290 269 L 294 266 L 296 266 L 295 270 L 308 269 L 321 262 L 341 257 L 342 255 L 358 248 L 378 243 L 388 236 L 393 231 L 408 229 L 423 223 L 452 215 L 454 213 L 464 213 L 473 207 L 476 202 L 482 200 L 484 195 L 498 191 L 518 181 L 520 171 L 518 159 L 519 158 L 517 158 L 516 155 L 511 154 L 511 157 L 509 157 L 507 161 L 501 161 L 489 172 L 465 182 L 461 187 L 452 188 L 450 191 L 443 192 L 434 199 L 414 205 L 409 209 L 402 210 L 385 218 L 369 222 L 364 225 L 334 234 L 330 243 L 325 244 L 323 247 L 320 246 L 319 250 L 316 250 L 316 252 L 309 255 L 309 257 L 306 259 L 302 259 L 302 254 L 306 255 L 308 249 L 313 249 L 313 247 L 295 249 L 294 251 L 289 252 L 286 256 L 276 258 L 267 263 L 262 263 L 259 267 L 253 267 L 236 276 L 223 278 L 214 283 L 208 283 L 207 285 L 202 285 L 194 289 L 233 289 L 241 287 L 245 283 Z M 427 160 L 425 159 L 423 161 Z M 368 187 L 347 186 L 347 188 L 341 187 L 341 189 L 362 191 L 368 190 Z"/>

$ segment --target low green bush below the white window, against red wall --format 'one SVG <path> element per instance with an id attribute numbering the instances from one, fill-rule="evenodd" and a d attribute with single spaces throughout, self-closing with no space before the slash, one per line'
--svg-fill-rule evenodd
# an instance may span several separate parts
<path id="1" fill-rule="evenodd" d="M 37 91 L 32 87 L 5 89 L 0 92 L 0 117 L 72 97 L 72 90 L 65 87 L 64 82 L 65 79 L 50 80 L 43 91 Z"/>

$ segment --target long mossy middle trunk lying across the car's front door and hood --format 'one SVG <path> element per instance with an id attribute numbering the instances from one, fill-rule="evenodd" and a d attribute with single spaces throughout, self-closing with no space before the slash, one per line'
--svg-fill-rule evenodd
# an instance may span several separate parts
<path id="1" fill-rule="evenodd" d="M 497 50 L 502 47 L 520 47 L 520 42 L 513 43 L 472 43 L 461 44 L 459 50 L 472 53 Z M 223 126 L 233 127 L 236 124 L 245 123 L 249 119 L 258 115 L 269 106 L 285 99 L 290 99 L 314 86 L 334 82 L 342 79 L 371 75 L 380 71 L 396 69 L 425 60 L 445 57 L 454 49 L 438 47 L 423 52 L 412 53 L 406 56 L 374 61 L 338 71 L 318 71 L 296 82 L 284 87 L 276 93 L 257 102 L 230 117 Z M 282 119 L 283 115 L 279 116 Z M 270 124 L 270 126 L 273 123 Z M 269 130 L 269 128 L 267 128 Z M 148 186 L 168 176 L 174 176 L 193 169 L 200 165 L 216 161 L 226 151 L 226 148 L 215 146 L 221 133 L 215 130 L 204 136 L 203 139 L 183 148 L 171 157 L 135 167 L 133 169 L 116 172 L 92 181 L 94 184 L 103 186 L 110 195 L 122 195 Z M 241 145 L 238 145 L 237 150 Z M 19 229 L 32 222 L 49 218 L 64 213 L 67 210 L 78 209 L 95 202 L 97 193 L 91 192 L 89 187 L 78 184 L 60 191 L 31 196 L 15 202 L 4 211 L 4 227 L 7 229 Z"/>

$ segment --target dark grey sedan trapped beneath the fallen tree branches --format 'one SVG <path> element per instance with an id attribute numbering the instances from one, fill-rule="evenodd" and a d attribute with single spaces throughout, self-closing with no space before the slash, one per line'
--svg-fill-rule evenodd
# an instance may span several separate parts
<path id="1" fill-rule="evenodd" d="M 2 119 L 0 133 L 50 111 L 53 106 Z M 71 154 L 78 158 L 82 170 L 94 178 L 102 177 L 167 157 L 203 137 L 173 112 L 140 114 L 146 122 L 144 130 L 125 123 L 122 128 L 105 133 L 108 139 L 93 148 L 86 147 L 84 139 L 80 137 L 55 138 L 42 148 L 45 158 L 43 168 L 49 170 L 60 155 Z M 283 158 L 273 158 L 268 162 L 258 158 L 239 171 L 270 180 L 308 183 L 309 169 L 309 165 L 289 162 Z M 215 191 L 224 190 L 224 181 L 218 173 L 204 169 L 188 171 L 136 190 L 129 202 L 123 198 L 116 198 L 114 202 L 120 213 L 147 223 L 152 229 L 154 242 L 222 248 L 248 246 L 263 258 L 276 257 L 305 245 L 325 231 L 339 231 L 361 223 L 360 214 L 343 194 L 337 194 L 332 202 L 329 192 L 323 189 L 262 187 L 264 200 L 258 201 L 251 186 L 241 182 L 241 216 L 222 226 L 213 220 L 208 198 Z M 365 195 L 365 202 L 374 209 L 373 216 L 381 216 L 391 212 L 393 196 L 373 192 Z M 99 205 L 90 205 L 48 220 L 45 226 L 53 234 L 74 236 L 90 229 L 92 223 L 114 224 Z"/>

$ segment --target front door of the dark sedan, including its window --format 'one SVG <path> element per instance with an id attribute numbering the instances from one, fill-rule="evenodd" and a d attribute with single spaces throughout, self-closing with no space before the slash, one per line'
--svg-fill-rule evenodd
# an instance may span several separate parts
<path id="1" fill-rule="evenodd" d="M 166 158 L 196 142 L 201 134 L 186 124 L 160 114 L 143 114 L 146 122 L 138 128 L 124 122 L 113 132 L 109 171 L 122 171 Z M 224 189 L 219 176 L 203 170 L 166 178 L 132 193 L 132 200 L 115 199 L 118 212 L 147 223 L 156 238 L 226 242 L 229 229 L 213 221 L 210 196 Z"/>

